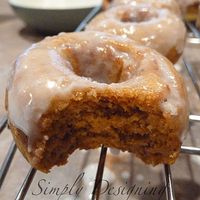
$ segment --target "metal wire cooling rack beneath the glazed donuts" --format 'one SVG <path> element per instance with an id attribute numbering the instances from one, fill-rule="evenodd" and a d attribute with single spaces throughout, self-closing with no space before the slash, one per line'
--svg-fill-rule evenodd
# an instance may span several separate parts
<path id="1" fill-rule="evenodd" d="M 75 30 L 76 32 L 79 32 L 85 28 L 87 23 L 100 11 L 101 7 L 95 7 L 88 16 L 80 23 L 80 25 Z M 200 39 L 200 32 L 197 30 L 197 28 L 190 22 L 186 22 L 186 25 L 188 29 L 193 33 L 194 38 L 193 39 Z M 198 78 L 196 74 L 194 73 L 193 66 L 187 62 L 187 60 L 183 59 L 184 66 L 187 70 L 187 73 L 189 77 L 192 80 L 192 83 L 195 87 L 195 90 L 198 94 L 198 97 L 200 99 L 200 87 L 198 85 Z M 200 123 L 200 115 L 190 115 L 189 116 L 190 122 L 199 122 Z M 7 125 L 7 117 L 4 117 L 2 120 L 0 120 L 0 133 L 5 129 Z M 0 168 L 0 189 L 3 185 L 4 179 L 7 175 L 8 169 L 10 167 L 10 164 L 13 160 L 13 157 L 16 152 L 16 145 L 13 141 L 12 144 L 9 147 L 9 150 L 5 156 L 5 159 L 3 161 L 3 164 Z M 182 146 L 181 147 L 181 153 L 182 154 L 189 154 L 189 155 L 199 155 L 200 156 L 200 148 L 193 147 L 193 146 Z M 91 200 L 99 200 L 100 197 L 100 190 L 101 190 L 101 183 L 103 178 L 103 172 L 104 172 L 104 165 L 106 161 L 106 155 L 107 155 L 107 147 L 103 146 L 101 147 L 101 152 L 99 156 L 99 163 L 98 168 L 96 172 L 96 179 L 93 187 L 93 192 L 91 196 Z M 173 186 L 173 176 L 171 173 L 170 165 L 164 165 L 164 177 L 165 177 L 165 184 L 166 184 L 166 198 L 167 200 L 175 200 L 175 191 Z M 29 187 L 34 179 L 34 176 L 36 174 L 37 170 L 34 168 L 30 168 L 20 190 L 18 191 L 18 194 L 15 198 L 15 200 L 23 200 L 26 197 L 26 194 L 29 190 Z"/>

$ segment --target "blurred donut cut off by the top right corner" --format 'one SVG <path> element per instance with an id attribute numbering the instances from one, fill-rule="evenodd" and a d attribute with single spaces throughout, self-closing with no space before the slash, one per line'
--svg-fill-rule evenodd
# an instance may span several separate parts
<path id="1" fill-rule="evenodd" d="M 200 0 L 177 0 L 177 2 L 186 20 L 195 21 L 197 19 Z"/>

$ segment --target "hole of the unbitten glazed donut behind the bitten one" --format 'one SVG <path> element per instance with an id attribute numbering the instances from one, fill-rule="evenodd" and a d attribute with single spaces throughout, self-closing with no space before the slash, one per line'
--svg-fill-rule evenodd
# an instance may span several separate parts
<path id="1" fill-rule="evenodd" d="M 121 22 L 147 22 L 152 20 L 153 18 L 158 17 L 156 12 L 150 11 L 148 8 L 142 8 L 137 10 L 129 10 L 125 9 L 120 16 Z"/>

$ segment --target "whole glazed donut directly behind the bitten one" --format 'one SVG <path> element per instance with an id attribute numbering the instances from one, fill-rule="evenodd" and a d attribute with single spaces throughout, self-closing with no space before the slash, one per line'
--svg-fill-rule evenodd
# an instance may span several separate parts
<path id="1" fill-rule="evenodd" d="M 128 37 L 151 47 L 175 63 L 183 52 L 186 28 L 166 9 L 147 4 L 116 6 L 97 15 L 86 30 Z"/>

